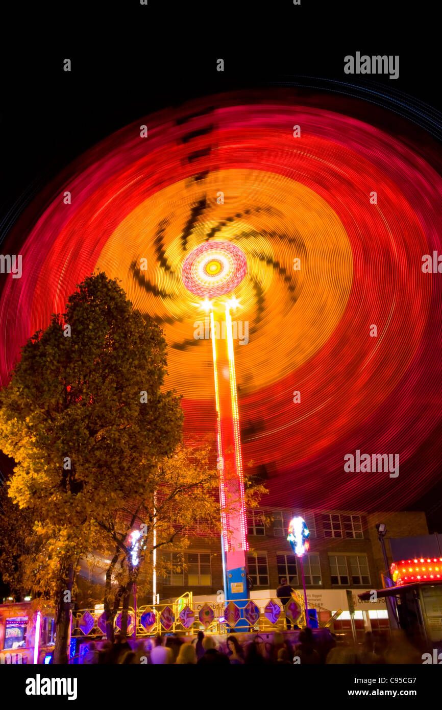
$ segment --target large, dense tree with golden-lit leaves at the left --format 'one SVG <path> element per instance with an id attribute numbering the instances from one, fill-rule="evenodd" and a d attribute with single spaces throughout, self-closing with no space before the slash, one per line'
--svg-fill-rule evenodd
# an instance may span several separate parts
<path id="1" fill-rule="evenodd" d="M 97 273 L 28 340 L 0 393 L 0 447 L 16 461 L 9 496 L 45 540 L 38 561 L 57 608 L 55 662 L 67 662 L 74 574 L 97 518 L 143 499 L 181 441 L 179 397 L 162 391 L 165 351 L 158 324 Z"/>

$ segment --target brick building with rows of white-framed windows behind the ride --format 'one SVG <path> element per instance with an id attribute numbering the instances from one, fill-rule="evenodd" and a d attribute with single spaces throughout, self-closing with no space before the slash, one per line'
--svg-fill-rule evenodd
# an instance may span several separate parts
<path id="1" fill-rule="evenodd" d="M 354 510 L 289 510 L 261 509 L 248 515 L 248 574 L 253 581 L 250 596 L 270 599 L 275 596 L 280 577 L 287 577 L 295 589 L 302 589 L 299 561 L 292 555 L 287 542 L 290 518 L 302 515 L 310 530 L 310 550 L 304 556 L 304 576 L 307 599 L 316 606 L 322 619 L 343 609 L 335 631 L 347 632 L 350 616 L 346 589 L 353 590 L 355 626 L 358 635 L 364 630 L 388 626 L 385 600 L 376 603 L 361 602 L 358 591 L 382 587 L 385 563 L 382 548 L 377 540 L 376 523 L 387 524 L 388 537 L 426 535 L 428 527 L 422 512 L 363 513 Z M 184 552 L 185 566 L 179 567 L 179 553 L 167 552 L 175 571 L 167 579 L 158 579 L 160 599 L 173 599 L 184 591 L 194 597 L 214 599 L 223 589 L 221 543 L 214 536 L 209 542 L 192 537 L 190 547 Z M 322 610 L 322 611 L 321 611 Z"/>

